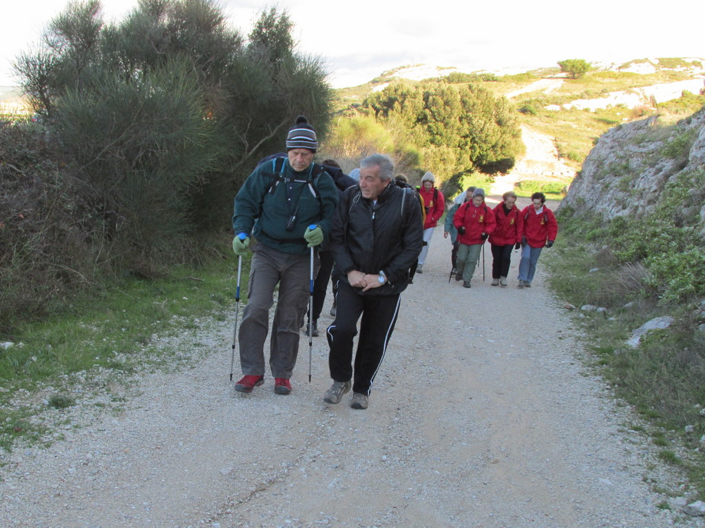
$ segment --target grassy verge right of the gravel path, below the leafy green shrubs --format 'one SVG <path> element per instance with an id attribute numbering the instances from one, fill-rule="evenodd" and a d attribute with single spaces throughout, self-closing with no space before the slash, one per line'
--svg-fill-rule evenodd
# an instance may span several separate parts
<path id="1" fill-rule="evenodd" d="M 607 246 L 586 241 L 570 227 L 548 253 L 551 288 L 577 307 L 577 322 L 591 367 L 615 395 L 643 419 L 630 425 L 649 436 L 664 463 L 685 474 L 685 489 L 670 494 L 705 500 L 705 347 L 697 328 L 703 317 L 691 302 L 658 303 L 645 284 L 649 272 L 619 264 Z M 581 306 L 606 308 L 583 311 Z M 626 341 L 651 318 L 669 315 L 668 329 L 649 332 L 638 348 Z M 654 484 L 654 483 L 652 483 Z M 654 484 L 656 485 L 656 484 Z"/>

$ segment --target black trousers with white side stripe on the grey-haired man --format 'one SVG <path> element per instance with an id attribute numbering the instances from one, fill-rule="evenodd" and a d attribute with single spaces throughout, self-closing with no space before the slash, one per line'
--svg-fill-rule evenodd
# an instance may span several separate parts
<path id="1" fill-rule="evenodd" d="M 326 331 L 331 348 L 328 363 L 334 381 L 353 379 L 353 392 L 369 396 L 394 331 L 400 299 L 400 294 L 360 295 L 359 290 L 356 291 L 347 282 L 338 282 L 336 320 Z M 357 320 L 361 315 L 353 369 L 353 339 L 357 335 Z"/>

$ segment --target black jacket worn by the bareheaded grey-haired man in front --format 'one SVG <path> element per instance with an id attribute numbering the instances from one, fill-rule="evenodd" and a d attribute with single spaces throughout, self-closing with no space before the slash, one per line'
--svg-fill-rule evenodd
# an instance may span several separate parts
<path id="1" fill-rule="evenodd" d="M 359 184 L 350 187 L 343 192 L 331 227 L 338 279 L 348 282 L 348 272 L 353 270 L 382 271 L 387 282 L 364 295 L 398 294 L 409 283 L 409 268 L 421 253 L 423 238 L 421 209 L 413 191 L 391 180 L 375 204 L 362 197 Z"/>

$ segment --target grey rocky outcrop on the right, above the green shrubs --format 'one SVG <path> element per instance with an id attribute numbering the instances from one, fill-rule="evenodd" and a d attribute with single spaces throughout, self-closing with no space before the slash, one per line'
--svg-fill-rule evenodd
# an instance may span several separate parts
<path id="1" fill-rule="evenodd" d="M 661 125 L 655 117 L 619 125 L 600 137 L 559 210 L 572 206 L 604 220 L 642 217 L 668 182 L 695 170 L 705 170 L 705 109 L 675 125 Z M 705 238 L 705 189 L 689 189 L 683 203 L 699 210 Z"/>

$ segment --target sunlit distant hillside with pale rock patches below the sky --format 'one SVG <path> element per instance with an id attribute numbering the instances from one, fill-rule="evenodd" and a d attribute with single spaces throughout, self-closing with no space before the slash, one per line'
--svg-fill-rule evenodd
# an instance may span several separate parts
<path id="1" fill-rule="evenodd" d="M 705 104 L 705 58 L 643 58 L 626 63 L 594 63 L 578 79 L 558 65 L 526 72 L 477 71 L 406 65 L 389 70 L 358 87 L 336 90 L 336 109 L 362 103 L 367 94 L 390 82 L 436 80 L 453 84 L 480 83 L 496 96 L 515 103 L 520 120 L 556 142 L 560 158 L 579 170 L 602 134 L 625 122 L 659 115 L 676 120 Z"/>

